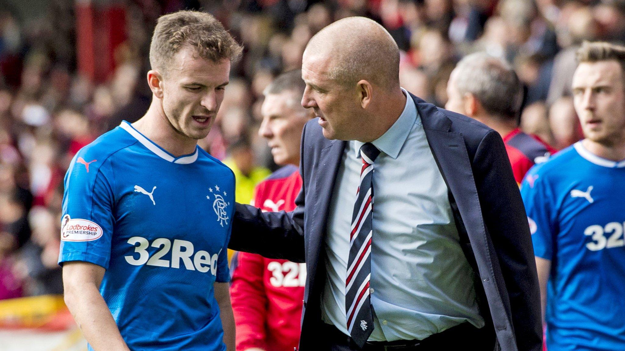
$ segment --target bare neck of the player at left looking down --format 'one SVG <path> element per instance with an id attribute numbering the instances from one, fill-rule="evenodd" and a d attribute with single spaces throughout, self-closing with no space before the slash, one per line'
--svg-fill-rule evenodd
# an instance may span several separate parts
<path id="1" fill-rule="evenodd" d="M 178 132 L 169 122 L 158 99 L 152 99 L 148 112 L 133 127 L 174 157 L 192 154 L 197 140 Z"/>

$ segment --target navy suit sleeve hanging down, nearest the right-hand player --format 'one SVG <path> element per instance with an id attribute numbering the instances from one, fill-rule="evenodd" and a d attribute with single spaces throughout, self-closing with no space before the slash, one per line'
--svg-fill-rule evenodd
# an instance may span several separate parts
<path id="1" fill-rule="evenodd" d="M 519 187 L 497 132 L 484 136 L 472 167 L 486 232 L 505 282 L 499 289 L 508 296 L 518 349 L 539 351 L 541 300 L 534 250 Z"/>

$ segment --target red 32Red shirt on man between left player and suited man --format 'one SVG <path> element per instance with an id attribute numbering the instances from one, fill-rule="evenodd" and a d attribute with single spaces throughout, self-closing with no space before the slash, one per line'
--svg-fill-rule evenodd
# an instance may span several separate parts
<path id="1" fill-rule="evenodd" d="M 293 210 L 301 187 L 297 167 L 282 167 L 257 185 L 254 205 L 266 211 Z M 297 347 L 306 265 L 237 252 L 231 271 L 236 350 Z"/>

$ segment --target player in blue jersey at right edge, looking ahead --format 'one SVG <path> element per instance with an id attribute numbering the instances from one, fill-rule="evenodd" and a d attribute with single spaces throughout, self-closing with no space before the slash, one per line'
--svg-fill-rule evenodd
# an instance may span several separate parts
<path id="1" fill-rule="evenodd" d="M 577 51 L 573 100 L 584 137 L 521 188 L 547 350 L 625 350 L 625 47 Z"/>

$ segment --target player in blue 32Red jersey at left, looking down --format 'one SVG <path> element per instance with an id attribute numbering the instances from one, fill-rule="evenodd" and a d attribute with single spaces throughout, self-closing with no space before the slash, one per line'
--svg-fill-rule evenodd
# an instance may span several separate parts
<path id="1" fill-rule="evenodd" d="M 59 264 L 90 350 L 234 351 L 226 247 L 234 175 L 197 146 L 241 47 L 210 14 L 158 20 L 153 99 L 76 154 Z"/>

